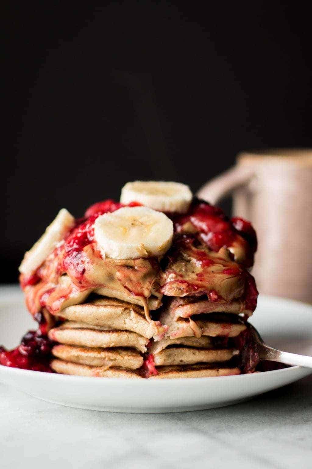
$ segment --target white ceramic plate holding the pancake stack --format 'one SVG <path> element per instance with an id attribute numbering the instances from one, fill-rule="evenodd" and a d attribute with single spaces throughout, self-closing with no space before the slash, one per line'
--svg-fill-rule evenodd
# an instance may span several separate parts
<path id="1" fill-rule="evenodd" d="M 251 322 L 271 346 L 312 355 L 312 306 L 262 296 Z M 0 344 L 14 347 L 34 328 L 22 293 L 1 287 Z M 294 366 L 283 370 L 218 378 L 131 380 L 84 378 L 0 365 L 0 380 L 44 401 L 111 412 L 178 412 L 222 407 L 285 386 L 312 373 Z"/>

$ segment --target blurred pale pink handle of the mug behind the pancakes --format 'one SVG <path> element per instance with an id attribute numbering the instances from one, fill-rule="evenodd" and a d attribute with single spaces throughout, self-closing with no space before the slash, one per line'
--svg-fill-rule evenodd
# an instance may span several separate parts
<path id="1" fill-rule="evenodd" d="M 254 176 L 254 170 L 247 166 L 232 166 L 224 173 L 211 179 L 197 192 L 197 197 L 212 205 L 217 204 L 223 197 L 244 186 Z"/>

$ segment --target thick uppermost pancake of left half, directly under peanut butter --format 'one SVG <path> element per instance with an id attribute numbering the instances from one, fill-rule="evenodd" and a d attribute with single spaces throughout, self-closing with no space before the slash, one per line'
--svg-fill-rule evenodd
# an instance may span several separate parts
<path id="1" fill-rule="evenodd" d="M 159 321 L 148 321 L 143 308 L 113 298 L 100 298 L 90 303 L 69 306 L 62 317 L 110 329 L 136 332 L 146 339 L 163 338 L 166 328 Z"/>

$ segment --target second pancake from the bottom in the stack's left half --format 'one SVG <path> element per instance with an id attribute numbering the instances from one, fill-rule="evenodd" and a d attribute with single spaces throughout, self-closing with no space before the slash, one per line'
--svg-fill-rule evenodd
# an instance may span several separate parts
<path id="1" fill-rule="evenodd" d="M 136 370 L 143 364 L 143 356 L 137 350 L 129 348 L 86 348 L 59 344 L 52 348 L 52 354 L 66 362 L 89 366 Z"/>

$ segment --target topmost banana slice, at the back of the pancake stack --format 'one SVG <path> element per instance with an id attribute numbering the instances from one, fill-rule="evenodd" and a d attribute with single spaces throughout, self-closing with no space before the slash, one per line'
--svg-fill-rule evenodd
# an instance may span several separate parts
<path id="1" fill-rule="evenodd" d="M 192 197 L 189 186 L 181 182 L 134 181 L 123 186 L 120 202 L 139 202 L 160 212 L 185 213 Z"/>

